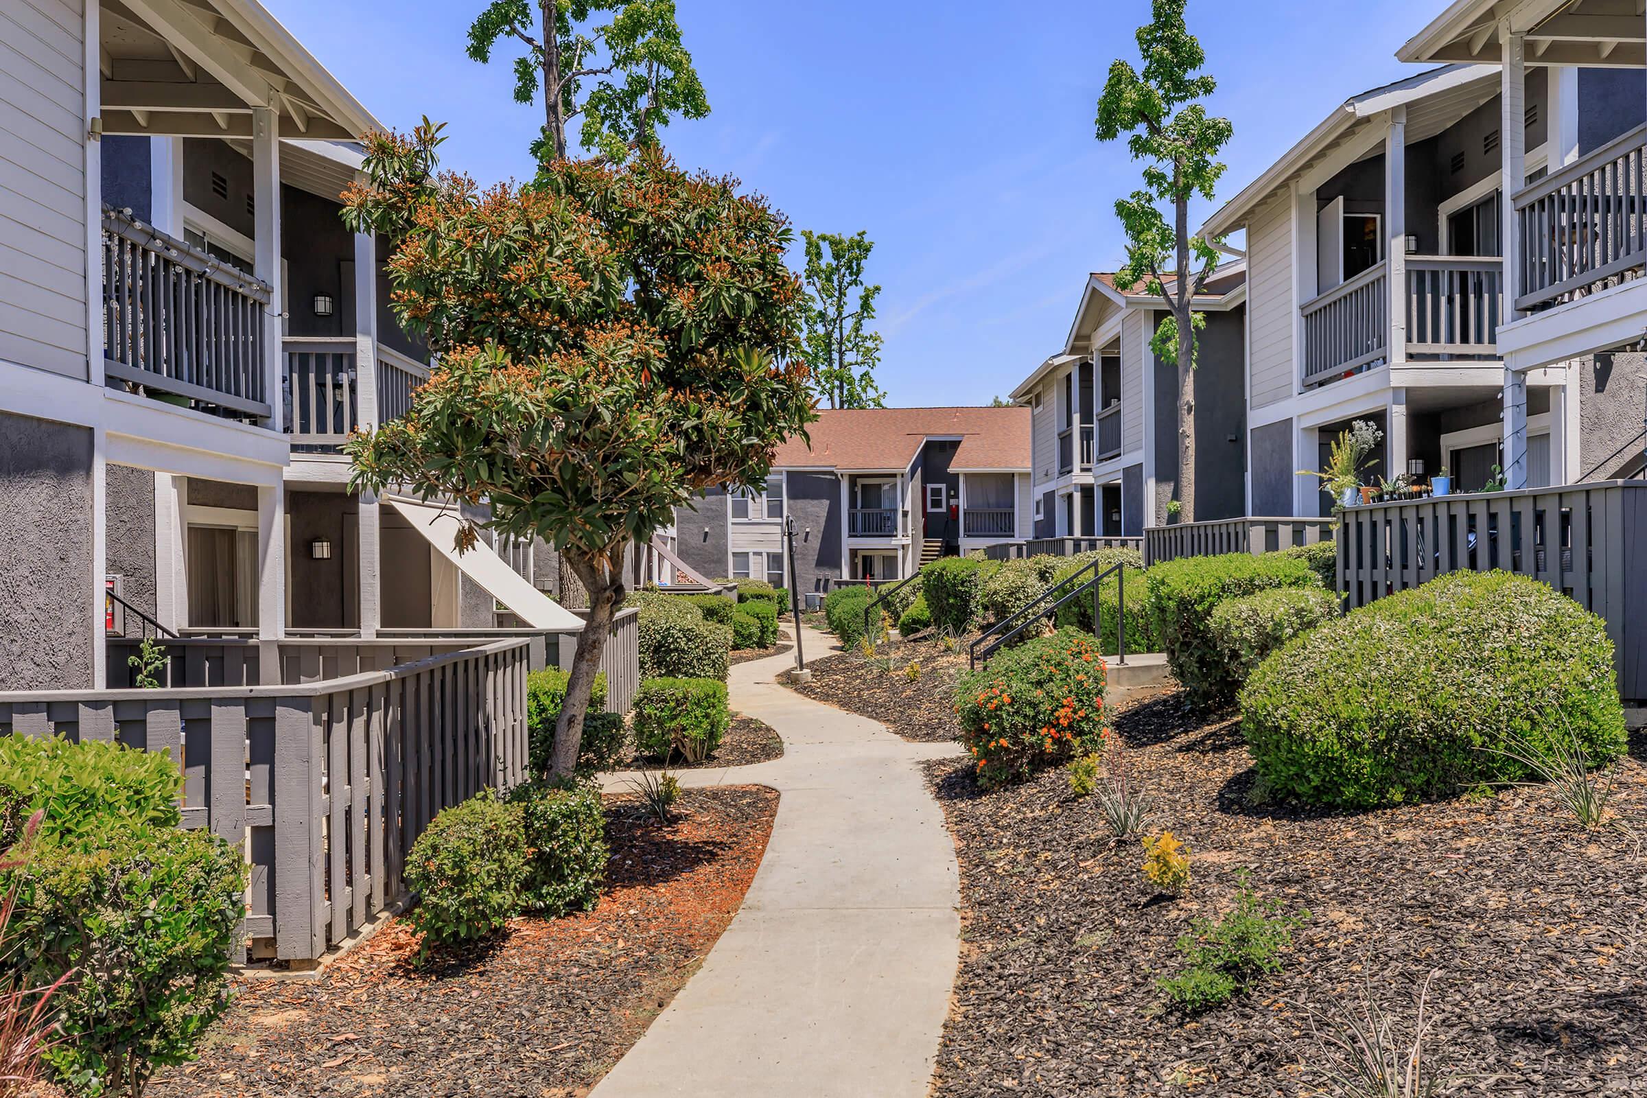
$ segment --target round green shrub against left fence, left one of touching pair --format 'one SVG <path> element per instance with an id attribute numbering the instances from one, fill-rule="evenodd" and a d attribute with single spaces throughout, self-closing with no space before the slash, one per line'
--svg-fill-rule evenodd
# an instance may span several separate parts
<path id="1" fill-rule="evenodd" d="M 418 904 L 407 919 L 423 933 L 423 953 L 438 945 L 489 938 L 520 910 L 525 838 L 520 808 L 481 790 L 441 808 L 412 843 L 407 887 Z"/>

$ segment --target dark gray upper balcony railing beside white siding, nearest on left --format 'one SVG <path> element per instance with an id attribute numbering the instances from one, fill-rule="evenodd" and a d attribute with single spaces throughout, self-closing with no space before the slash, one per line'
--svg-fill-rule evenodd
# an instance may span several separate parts
<path id="1" fill-rule="evenodd" d="M 104 372 L 247 418 L 270 415 L 268 286 L 127 214 L 102 214 Z"/>

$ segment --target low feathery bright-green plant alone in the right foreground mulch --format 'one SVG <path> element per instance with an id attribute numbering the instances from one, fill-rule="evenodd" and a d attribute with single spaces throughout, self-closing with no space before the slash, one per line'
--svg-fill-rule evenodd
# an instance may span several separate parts
<path id="1" fill-rule="evenodd" d="M 1224 919 L 1197 919 L 1176 948 L 1184 968 L 1158 981 L 1161 991 L 1189 1012 L 1220 1006 L 1247 991 L 1258 976 L 1281 971 L 1281 953 L 1293 945 L 1293 930 L 1309 912 L 1281 914 L 1281 900 L 1262 900 L 1242 874 L 1235 909 Z"/>

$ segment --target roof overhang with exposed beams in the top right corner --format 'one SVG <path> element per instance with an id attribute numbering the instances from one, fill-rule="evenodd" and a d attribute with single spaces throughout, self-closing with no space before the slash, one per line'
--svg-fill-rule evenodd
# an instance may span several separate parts
<path id="1" fill-rule="evenodd" d="M 1647 18 L 1635 0 L 1454 0 L 1395 56 L 1502 64 L 1504 21 L 1523 36 L 1528 64 L 1647 64 Z"/>

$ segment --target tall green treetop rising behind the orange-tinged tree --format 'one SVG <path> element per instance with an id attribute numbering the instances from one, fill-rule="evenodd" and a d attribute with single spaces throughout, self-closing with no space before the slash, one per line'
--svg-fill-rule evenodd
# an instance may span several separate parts
<path id="1" fill-rule="evenodd" d="M 710 112 L 675 0 L 492 0 L 469 26 L 468 53 L 486 63 L 507 40 L 525 48 L 514 59 L 516 102 L 544 92 L 544 133 L 532 145 L 540 161 L 567 158 L 578 115 L 583 148 L 621 163 L 656 147 L 670 115 Z"/>

